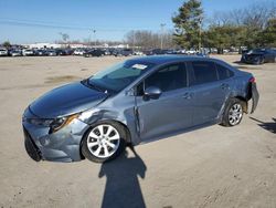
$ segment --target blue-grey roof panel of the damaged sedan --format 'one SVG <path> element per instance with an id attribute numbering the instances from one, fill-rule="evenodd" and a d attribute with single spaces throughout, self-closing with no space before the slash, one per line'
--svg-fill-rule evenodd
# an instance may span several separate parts
<path id="1" fill-rule="evenodd" d="M 148 62 L 153 64 L 166 64 L 178 61 L 210 61 L 210 60 L 214 61 L 215 59 L 193 56 L 193 55 L 149 55 L 149 56 L 135 58 L 131 60 L 138 62 Z"/>

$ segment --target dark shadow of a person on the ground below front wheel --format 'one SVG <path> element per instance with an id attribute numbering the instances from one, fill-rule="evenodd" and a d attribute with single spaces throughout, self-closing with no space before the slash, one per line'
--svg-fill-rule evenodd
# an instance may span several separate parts
<path id="1" fill-rule="evenodd" d="M 102 165 L 98 177 L 106 176 L 102 208 L 146 207 L 138 176 L 146 177 L 147 167 L 134 147 L 134 156 L 125 150 L 120 157 Z"/>

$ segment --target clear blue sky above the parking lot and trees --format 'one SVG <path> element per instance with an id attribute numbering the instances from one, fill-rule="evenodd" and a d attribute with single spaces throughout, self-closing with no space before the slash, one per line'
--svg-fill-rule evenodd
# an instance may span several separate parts
<path id="1" fill-rule="evenodd" d="M 0 43 L 61 40 L 121 41 L 130 30 L 172 30 L 171 17 L 184 0 L 0 0 Z M 255 2 L 264 2 L 258 0 Z M 202 0 L 206 17 L 245 8 L 253 0 Z M 95 31 L 95 32 L 94 32 Z"/>

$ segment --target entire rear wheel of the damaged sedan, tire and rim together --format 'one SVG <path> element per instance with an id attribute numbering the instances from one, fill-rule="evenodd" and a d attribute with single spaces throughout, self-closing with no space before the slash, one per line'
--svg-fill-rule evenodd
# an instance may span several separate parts
<path id="1" fill-rule="evenodd" d="M 238 98 L 231 98 L 222 117 L 221 125 L 236 126 L 243 118 L 243 102 Z"/>

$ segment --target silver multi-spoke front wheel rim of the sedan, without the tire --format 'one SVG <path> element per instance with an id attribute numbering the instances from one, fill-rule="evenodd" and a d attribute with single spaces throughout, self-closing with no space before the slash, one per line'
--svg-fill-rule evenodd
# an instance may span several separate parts
<path id="1" fill-rule="evenodd" d="M 99 158 L 110 157 L 119 147 L 120 136 L 118 131 L 108 124 L 94 127 L 88 134 L 87 147 Z"/>

